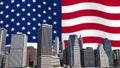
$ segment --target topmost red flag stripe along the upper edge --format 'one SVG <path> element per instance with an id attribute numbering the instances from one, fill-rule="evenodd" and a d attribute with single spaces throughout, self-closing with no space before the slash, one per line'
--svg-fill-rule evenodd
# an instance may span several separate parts
<path id="1" fill-rule="evenodd" d="M 73 5 L 83 2 L 94 2 L 100 3 L 108 6 L 120 6 L 120 0 L 62 0 L 63 6 Z"/>

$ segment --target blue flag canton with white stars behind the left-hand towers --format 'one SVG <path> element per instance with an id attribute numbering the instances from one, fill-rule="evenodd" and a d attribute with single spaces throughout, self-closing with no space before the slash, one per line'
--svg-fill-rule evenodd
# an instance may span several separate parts
<path id="1" fill-rule="evenodd" d="M 19 32 L 36 43 L 42 23 L 53 25 L 53 41 L 61 39 L 61 0 L 0 0 L 0 27 L 8 30 L 7 44 L 11 34 Z"/>

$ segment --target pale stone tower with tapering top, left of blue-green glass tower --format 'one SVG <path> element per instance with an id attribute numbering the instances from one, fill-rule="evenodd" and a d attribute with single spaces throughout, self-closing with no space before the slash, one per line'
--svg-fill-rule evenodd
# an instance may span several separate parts
<path id="1" fill-rule="evenodd" d="M 96 56 L 96 66 L 97 67 L 109 67 L 108 56 L 103 48 L 103 45 L 98 45 L 98 48 L 95 52 Z"/>

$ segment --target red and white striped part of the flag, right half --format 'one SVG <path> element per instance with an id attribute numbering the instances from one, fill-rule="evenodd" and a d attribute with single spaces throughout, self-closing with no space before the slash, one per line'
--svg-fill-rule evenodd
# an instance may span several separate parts
<path id="1" fill-rule="evenodd" d="M 120 47 L 120 0 L 62 0 L 62 39 L 71 34 L 81 35 L 84 46 L 108 38 Z"/>

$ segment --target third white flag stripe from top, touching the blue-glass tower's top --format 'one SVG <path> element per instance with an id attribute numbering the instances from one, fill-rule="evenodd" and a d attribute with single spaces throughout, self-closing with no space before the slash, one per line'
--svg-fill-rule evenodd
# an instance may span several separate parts
<path id="1" fill-rule="evenodd" d="M 101 37 L 101 38 L 108 38 L 110 40 L 120 40 L 120 34 L 118 33 L 107 33 L 104 31 L 100 30 L 81 30 L 77 32 L 72 32 L 72 33 L 62 33 L 62 39 L 63 40 L 68 40 L 69 35 L 76 34 L 76 35 L 81 35 L 82 37 L 87 37 L 87 36 L 94 36 L 94 37 Z"/>

